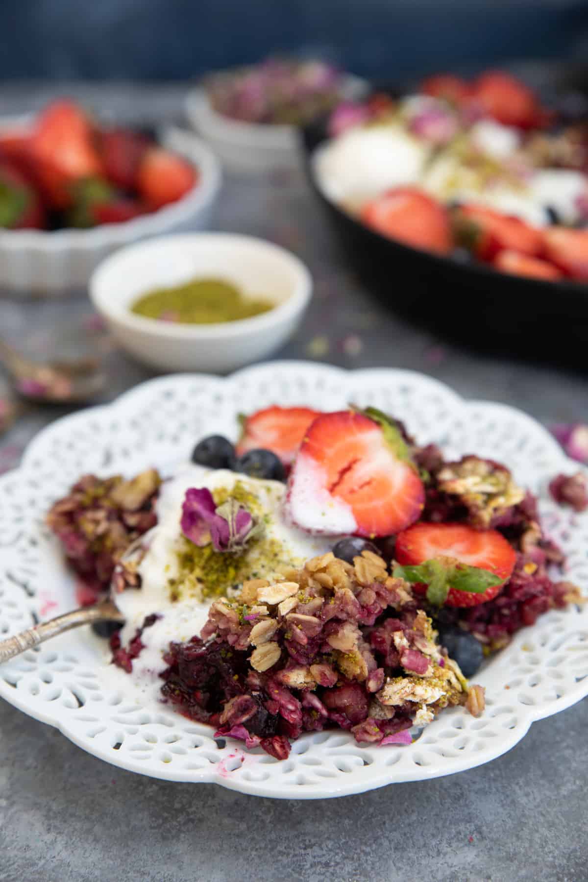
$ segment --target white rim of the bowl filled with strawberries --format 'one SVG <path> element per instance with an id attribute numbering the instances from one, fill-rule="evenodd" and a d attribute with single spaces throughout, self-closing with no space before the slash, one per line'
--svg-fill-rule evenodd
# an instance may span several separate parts
<path id="1" fill-rule="evenodd" d="M 0 117 L 0 129 L 9 129 L 30 122 L 31 116 Z M 160 143 L 165 146 L 166 133 Z M 173 147 L 170 147 L 173 149 Z M 190 221 L 194 214 L 208 206 L 220 189 L 222 174 L 220 162 L 204 140 L 190 133 L 190 153 L 182 153 L 199 172 L 195 186 L 178 199 L 177 202 L 160 208 L 159 211 L 144 214 L 132 221 L 100 224 L 92 229 L 16 229 L 0 228 L 0 249 L 26 250 L 35 248 L 55 253 L 86 248 L 99 249 L 115 247 L 130 240 L 160 233 L 162 229 L 179 226 Z"/>

